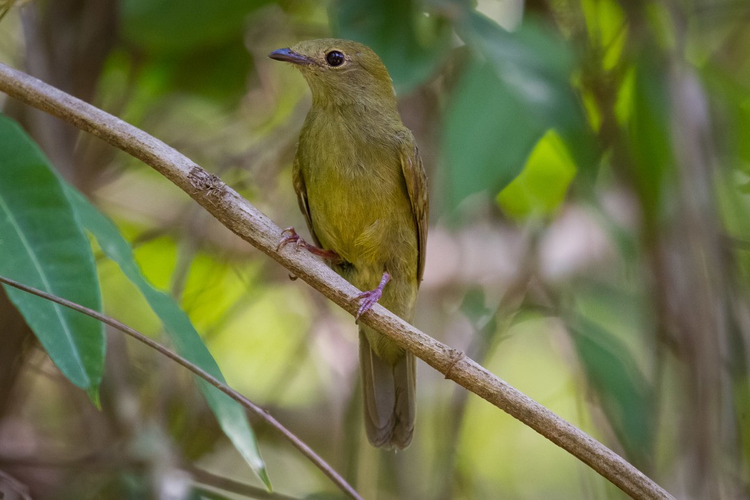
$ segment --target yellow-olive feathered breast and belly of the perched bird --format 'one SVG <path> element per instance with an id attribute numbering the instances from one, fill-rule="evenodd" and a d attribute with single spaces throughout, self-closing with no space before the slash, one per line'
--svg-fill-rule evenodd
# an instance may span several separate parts
<path id="1" fill-rule="evenodd" d="M 368 132 L 324 120 L 303 130 L 298 151 L 314 232 L 354 265 L 383 262 L 416 238 L 398 151 Z"/>

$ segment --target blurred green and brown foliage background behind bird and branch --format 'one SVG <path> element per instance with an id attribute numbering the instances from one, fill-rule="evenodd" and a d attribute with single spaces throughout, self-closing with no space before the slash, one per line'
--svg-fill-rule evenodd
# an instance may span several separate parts
<path id="1" fill-rule="evenodd" d="M 750 498 L 747 1 L 0 5 L 0 61 L 157 136 L 281 227 L 305 228 L 291 163 L 310 95 L 266 55 L 316 37 L 373 47 L 430 180 L 416 326 L 674 496 Z M 5 96 L 0 106 L 115 220 L 229 384 L 365 498 L 625 498 L 425 364 L 413 444 L 371 448 L 347 313 L 137 160 Z M 98 271 L 106 312 L 163 340 L 116 265 Z M 117 332 L 101 411 L 5 296 L 0 332 L 0 469 L 35 500 L 340 496 L 259 421 L 278 496 L 243 490 L 233 481 L 260 481 L 190 376 Z"/>

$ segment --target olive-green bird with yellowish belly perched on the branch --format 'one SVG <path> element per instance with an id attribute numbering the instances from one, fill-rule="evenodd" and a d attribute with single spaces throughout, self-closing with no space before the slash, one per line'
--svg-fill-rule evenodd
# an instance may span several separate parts
<path id="1" fill-rule="evenodd" d="M 310 40 L 271 52 L 293 63 L 313 104 L 293 166 L 294 188 L 317 247 L 361 290 L 357 317 L 377 301 L 411 322 L 425 269 L 428 189 L 414 137 L 401 123 L 391 78 L 372 49 Z M 406 448 L 414 433 L 416 361 L 372 328 L 359 328 L 365 430 L 374 446 Z"/>

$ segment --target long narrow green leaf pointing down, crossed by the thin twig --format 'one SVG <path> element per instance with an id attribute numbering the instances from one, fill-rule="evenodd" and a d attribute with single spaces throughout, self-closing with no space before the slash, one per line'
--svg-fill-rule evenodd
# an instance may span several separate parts
<path id="1" fill-rule="evenodd" d="M 208 352 L 187 314 L 180 309 L 172 297 L 154 289 L 145 280 L 136 264 L 130 244 L 125 241 L 112 221 L 101 214 L 74 188 L 68 186 L 67 194 L 83 225 L 94 235 L 107 257 L 119 265 L 127 279 L 140 290 L 148 301 L 148 305 L 159 316 L 179 355 L 221 382 L 225 382 L 211 352 Z M 266 464 L 260 457 L 257 441 L 248 423 L 245 409 L 205 380 L 199 377 L 196 377 L 196 380 L 223 432 L 233 442 L 251 469 L 271 490 L 271 482 L 266 474 Z"/>

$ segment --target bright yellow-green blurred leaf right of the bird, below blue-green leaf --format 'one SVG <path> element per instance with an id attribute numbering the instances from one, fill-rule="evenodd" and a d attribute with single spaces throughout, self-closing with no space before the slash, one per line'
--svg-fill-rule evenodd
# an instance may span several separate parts
<path id="1" fill-rule="evenodd" d="M 497 203 L 511 217 L 549 215 L 565 199 L 575 170 L 565 142 L 554 130 L 547 130 L 523 171 L 498 193 Z"/>

